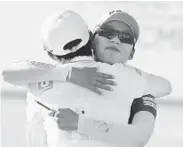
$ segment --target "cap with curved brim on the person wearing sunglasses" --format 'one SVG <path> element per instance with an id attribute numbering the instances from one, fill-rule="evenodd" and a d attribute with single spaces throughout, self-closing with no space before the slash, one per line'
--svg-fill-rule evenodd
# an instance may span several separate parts
<path id="1" fill-rule="evenodd" d="M 107 12 L 103 15 L 102 20 L 100 20 L 99 24 L 96 26 L 95 31 L 100 28 L 103 24 L 106 24 L 110 21 L 121 21 L 126 23 L 132 30 L 135 40 L 137 41 L 139 38 L 139 25 L 137 21 L 128 13 L 115 10 L 112 12 Z"/>

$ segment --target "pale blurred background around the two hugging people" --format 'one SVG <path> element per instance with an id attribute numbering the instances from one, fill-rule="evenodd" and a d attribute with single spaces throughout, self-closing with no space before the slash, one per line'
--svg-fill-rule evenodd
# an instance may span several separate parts
<path id="1" fill-rule="evenodd" d="M 158 100 L 155 131 L 146 147 L 183 147 L 183 2 L 0 2 L 1 70 L 20 60 L 46 61 L 41 24 L 64 8 L 81 14 L 91 30 L 106 11 L 122 9 L 137 19 L 140 38 L 129 64 L 164 76 L 173 88 L 170 96 Z M 0 88 L 2 147 L 25 147 L 26 91 L 2 76 Z"/>

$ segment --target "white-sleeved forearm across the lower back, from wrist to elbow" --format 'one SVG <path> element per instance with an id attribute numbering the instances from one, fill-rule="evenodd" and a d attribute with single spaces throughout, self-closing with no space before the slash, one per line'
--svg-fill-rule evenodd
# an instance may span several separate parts
<path id="1" fill-rule="evenodd" d="M 152 124 L 140 123 L 137 125 L 128 125 L 122 123 L 107 124 L 99 128 L 103 123 L 99 123 L 91 118 L 80 115 L 78 123 L 78 132 L 93 136 L 95 139 L 106 143 L 126 147 L 142 147 L 145 144 L 146 134 L 152 129 Z M 146 138 L 145 138 L 146 137 Z M 148 139 L 146 139 L 148 140 Z"/>

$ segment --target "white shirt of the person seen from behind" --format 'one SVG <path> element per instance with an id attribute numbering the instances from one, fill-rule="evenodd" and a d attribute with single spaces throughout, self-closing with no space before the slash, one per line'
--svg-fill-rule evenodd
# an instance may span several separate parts
<path id="1" fill-rule="evenodd" d="M 108 65 L 95 62 L 92 58 L 78 58 L 65 66 L 99 67 L 101 72 L 116 77 L 117 86 L 112 92 L 104 92 L 99 96 L 88 89 L 69 82 L 45 81 L 31 85 L 37 98 L 47 106 L 57 108 L 71 108 L 77 113 L 84 112 L 86 116 L 106 122 L 128 123 L 131 104 L 135 98 L 141 97 L 145 91 L 146 78 L 136 68 L 123 64 Z M 50 147 L 108 147 L 108 144 L 83 136 L 76 132 L 59 130 L 53 118 L 47 116 L 44 122 Z"/>

